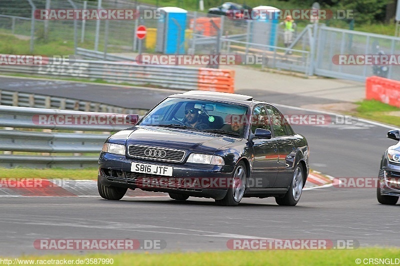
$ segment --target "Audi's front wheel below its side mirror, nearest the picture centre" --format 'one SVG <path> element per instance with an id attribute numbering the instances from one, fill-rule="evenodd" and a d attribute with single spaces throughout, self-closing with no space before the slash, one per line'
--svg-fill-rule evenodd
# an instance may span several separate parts
<path id="1" fill-rule="evenodd" d="M 243 198 L 246 187 L 247 171 L 243 162 L 239 162 L 233 171 L 232 184 L 229 184 L 228 191 L 222 200 L 215 200 L 219 206 L 237 206 Z"/>

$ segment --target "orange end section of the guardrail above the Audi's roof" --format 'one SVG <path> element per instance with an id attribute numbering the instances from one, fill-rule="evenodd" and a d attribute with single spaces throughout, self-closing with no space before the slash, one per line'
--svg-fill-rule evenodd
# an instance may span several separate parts
<path id="1" fill-rule="evenodd" d="M 198 89 L 234 93 L 234 70 L 199 68 Z"/>

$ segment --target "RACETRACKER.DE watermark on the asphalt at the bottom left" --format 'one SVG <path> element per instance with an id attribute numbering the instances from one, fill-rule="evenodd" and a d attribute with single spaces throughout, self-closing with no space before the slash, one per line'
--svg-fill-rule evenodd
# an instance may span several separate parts
<path id="1" fill-rule="evenodd" d="M 161 239 L 36 239 L 36 250 L 163 250 Z"/>

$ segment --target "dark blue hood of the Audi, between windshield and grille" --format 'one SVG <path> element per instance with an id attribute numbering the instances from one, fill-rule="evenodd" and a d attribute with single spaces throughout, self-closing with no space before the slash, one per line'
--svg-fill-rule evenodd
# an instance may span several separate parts
<path id="1" fill-rule="evenodd" d="M 220 134 L 157 126 L 143 126 L 135 127 L 131 130 L 122 130 L 109 138 L 109 142 L 112 143 L 180 149 L 201 153 L 213 153 L 225 145 L 240 140 L 240 138 Z"/>

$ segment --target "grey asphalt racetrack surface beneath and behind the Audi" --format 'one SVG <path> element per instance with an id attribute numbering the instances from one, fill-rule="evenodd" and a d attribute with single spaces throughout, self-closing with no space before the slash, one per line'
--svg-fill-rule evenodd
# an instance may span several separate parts
<path id="1" fill-rule="evenodd" d="M 1 83 L 4 90 L 147 109 L 178 92 L 4 77 Z M 283 114 L 330 115 L 296 108 L 331 102 L 327 99 L 257 90 L 235 92 L 278 103 Z M 386 138 L 390 127 L 356 118 L 347 124 L 292 127 L 308 140 L 311 168 L 336 178 L 377 177 L 383 151 L 394 144 Z M 337 187 L 307 190 L 295 207 L 278 206 L 273 198 L 244 198 L 233 208 L 197 198 L 183 203 L 166 197 L 123 198 L 118 202 L 100 197 L 1 198 L 0 245 L 2 254 L 8 256 L 66 252 L 37 250 L 33 243 L 38 239 L 162 240 L 166 248 L 161 252 L 223 251 L 231 239 L 252 238 L 354 240 L 360 247 L 400 247 L 400 205 L 378 204 L 375 191 Z"/>

